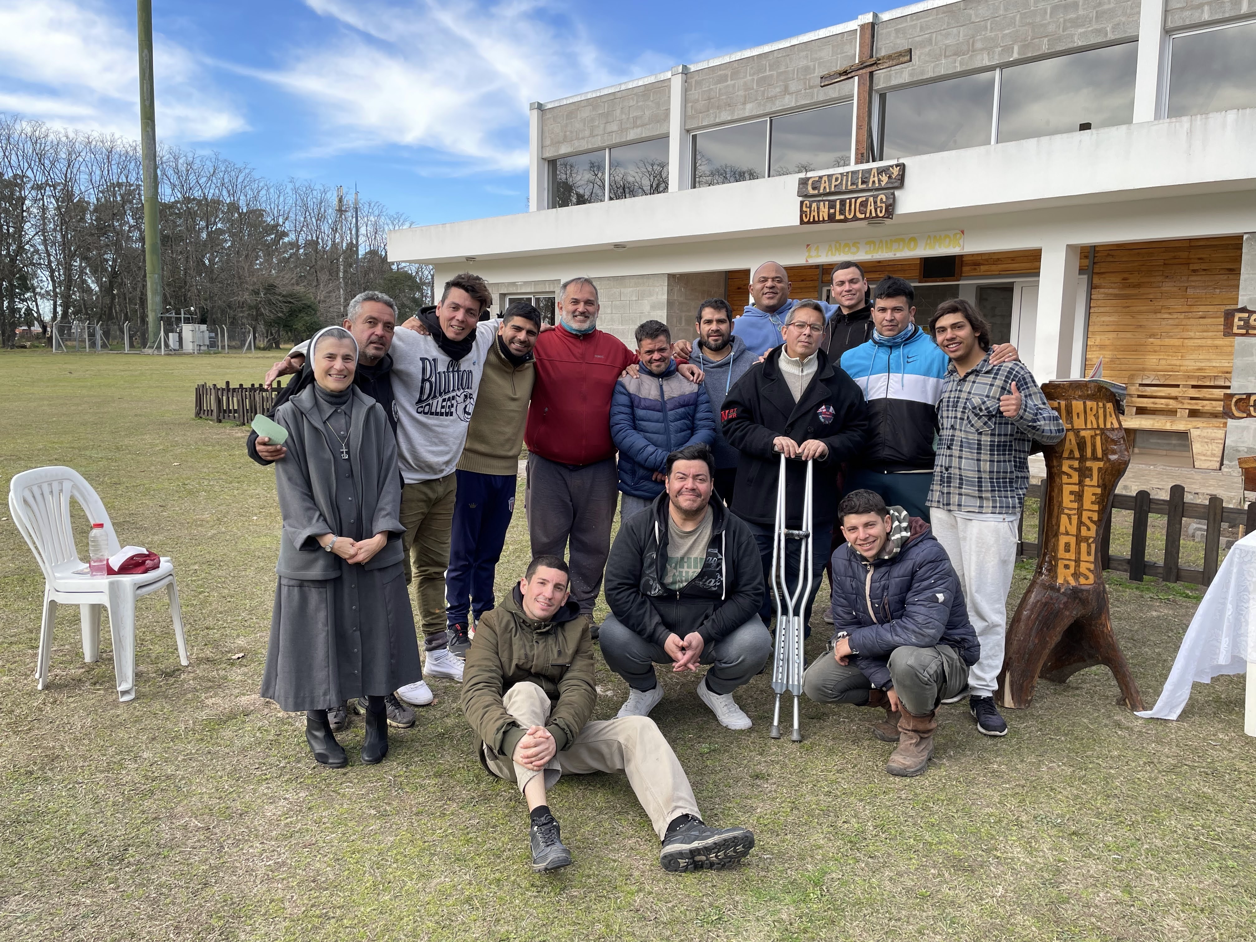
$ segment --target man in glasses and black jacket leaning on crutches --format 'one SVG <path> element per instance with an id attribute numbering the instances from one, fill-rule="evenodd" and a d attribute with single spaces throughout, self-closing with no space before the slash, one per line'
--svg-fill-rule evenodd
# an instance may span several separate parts
<path id="1" fill-rule="evenodd" d="M 803 609 L 804 625 L 820 573 L 829 556 L 830 530 L 838 511 L 836 477 L 868 435 L 868 403 L 854 381 L 820 349 L 824 309 L 819 301 L 798 301 L 782 329 L 785 344 L 771 350 L 728 391 L 720 411 L 727 442 L 741 452 L 732 512 L 750 526 L 759 545 L 764 584 L 771 585 L 776 484 L 781 455 L 786 468 L 786 528 L 811 531 L 811 590 Z M 813 463 L 811 520 L 803 520 L 806 462 Z M 799 578 L 798 541 L 786 553 L 786 577 Z M 760 617 L 772 615 L 770 589 Z M 810 633 L 808 631 L 808 633 Z"/>

